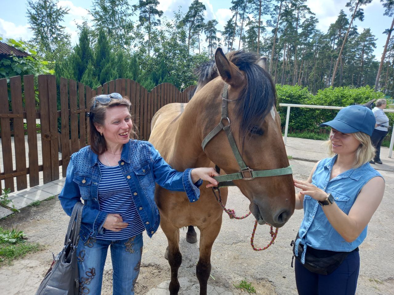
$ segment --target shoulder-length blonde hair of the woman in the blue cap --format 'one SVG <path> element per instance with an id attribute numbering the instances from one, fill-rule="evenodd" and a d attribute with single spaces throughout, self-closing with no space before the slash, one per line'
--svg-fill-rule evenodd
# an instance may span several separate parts
<path id="1" fill-rule="evenodd" d="M 372 145 L 371 137 L 368 134 L 364 132 L 355 132 L 351 134 L 360 142 L 353 164 L 353 168 L 359 168 L 375 157 L 375 147 Z M 330 139 L 325 142 L 325 145 L 327 145 L 329 156 L 335 156 L 336 154 L 333 152 Z"/>

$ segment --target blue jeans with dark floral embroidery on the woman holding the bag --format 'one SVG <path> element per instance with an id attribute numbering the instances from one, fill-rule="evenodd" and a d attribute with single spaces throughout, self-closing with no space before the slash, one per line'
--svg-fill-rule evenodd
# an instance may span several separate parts
<path id="1" fill-rule="evenodd" d="M 101 294 L 102 275 L 109 246 L 113 268 L 113 295 L 134 295 L 134 285 L 141 266 L 142 233 L 125 240 L 89 238 L 85 243 L 80 240 L 77 247 L 80 295 Z"/>

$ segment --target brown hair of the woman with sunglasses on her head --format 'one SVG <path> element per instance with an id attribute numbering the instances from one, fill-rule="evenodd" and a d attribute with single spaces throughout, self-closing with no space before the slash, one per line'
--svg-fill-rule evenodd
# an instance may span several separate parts
<path id="1" fill-rule="evenodd" d="M 128 112 L 130 112 L 131 103 L 127 96 L 124 96 L 122 100 L 112 99 L 109 103 L 102 104 L 99 101 L 96 101 L 96 107 L 93 109 L 93 104 L 95 102 L 94 97 L 89 104 L 89 135 L 88 142 L 90 144 L 90 148 L 93 153 L 97 155 L 101 155 L 107 150 L 107 145 L 104 136 L 100 135 L 99 131 L 97 131 L 95 124 L 104 125 L 105 121 L 105 112 L 107 109 L 111 107 L 116 107 L 118 105 L 124 105 L 127 107 Z M 136 129 L 136 125 L 133 124 L 133 128 L 130 132 L 130 138 L 136 138 L 137 133 L 134 131 Z"/>

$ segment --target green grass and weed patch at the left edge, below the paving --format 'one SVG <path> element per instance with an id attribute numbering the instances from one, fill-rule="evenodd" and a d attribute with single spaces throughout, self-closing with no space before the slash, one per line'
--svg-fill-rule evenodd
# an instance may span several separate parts
<path id="1" fill-rule="evenodd" d="M 5 230 L 0 227 L 0 267 L 10 264 L 16 258 L 42 249 L 39 243 L 24 240 L 26 234 L 22 230 Z"/>

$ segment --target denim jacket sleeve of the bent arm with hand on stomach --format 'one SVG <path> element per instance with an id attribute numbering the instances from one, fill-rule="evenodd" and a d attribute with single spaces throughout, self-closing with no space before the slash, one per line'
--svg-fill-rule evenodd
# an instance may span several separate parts
<path id="1" fill-rule="evenodd" d="M 71 216 L 74 205 L 81 201 L 78 184 L 76 184 L 73 179 L 74 165 L 72 164 L 72 159 L 70 159 L 69 166 L 67 167 L 66 181 L 63 190 L 61 190 L 59 194 L 60 204 L 68 216 Z M 84 206 L 82 210 L 82 222 L 90 224 L 92 226 L 92 232 L 97 233 L 100 225 L 102 225 L 107 218 L 107 215 L 108 213 L 104 211 L 93 209 L 91 206 Z"/>

